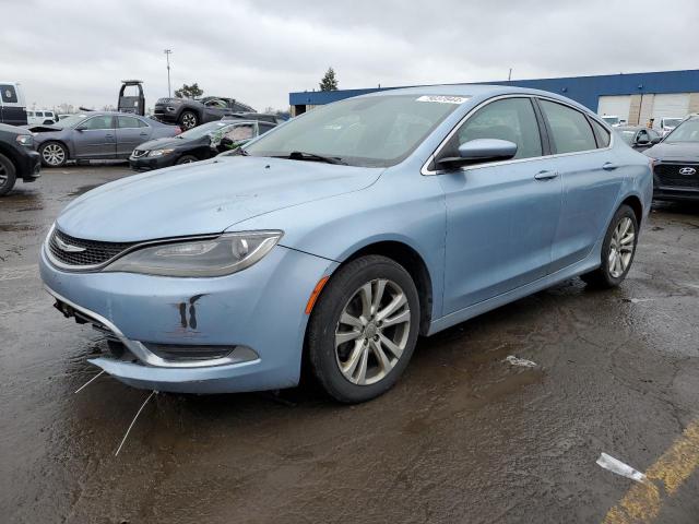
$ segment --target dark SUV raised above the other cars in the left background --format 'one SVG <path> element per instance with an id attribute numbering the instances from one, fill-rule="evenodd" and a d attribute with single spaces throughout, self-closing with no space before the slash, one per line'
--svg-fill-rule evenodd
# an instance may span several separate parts
<path id="1" fill-rule="evenodd" d="M 153 110 L 158 120 L 178 123 L 185 131 L 236 112 L 254 112 L 254 109 L 235 98 L 206 96 L 200 99 L 158 98 Z"/>

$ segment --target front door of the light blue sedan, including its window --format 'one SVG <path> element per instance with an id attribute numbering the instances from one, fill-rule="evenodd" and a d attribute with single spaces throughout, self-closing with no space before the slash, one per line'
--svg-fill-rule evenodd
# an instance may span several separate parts
<path id="1" fill-rule="evenodd" d="M 437 175 L 447 204 L 446 314 L 545 276 L 560 214 L 560 177 L 544 156 L 530 98 L 484 106 L 438 157 L 475 139 L 507 140 L 518 151 L 511 160 Z"/>

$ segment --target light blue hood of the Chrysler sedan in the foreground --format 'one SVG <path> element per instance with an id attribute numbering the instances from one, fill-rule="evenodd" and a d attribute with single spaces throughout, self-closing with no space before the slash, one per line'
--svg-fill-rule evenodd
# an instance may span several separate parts
<path id="1" fill-rule="evenodd" d="M 75 199 L 56 222 L 70 236 L 114 242 L 221 233 L 253 216 L 358 191 L 382 171 L 284 158 L 218 157 L 106 183 Z"/>

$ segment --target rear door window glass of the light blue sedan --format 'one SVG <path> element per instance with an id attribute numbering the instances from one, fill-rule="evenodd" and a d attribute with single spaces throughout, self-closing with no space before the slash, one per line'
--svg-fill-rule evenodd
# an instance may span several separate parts
<path id="1" fill-rule="evenodd" d="M 592 128 L 582 112 L 549 100 L 540 100 L 540 105 L 550 129 L 554 153 L 576 153 L 597 147 Z"/>

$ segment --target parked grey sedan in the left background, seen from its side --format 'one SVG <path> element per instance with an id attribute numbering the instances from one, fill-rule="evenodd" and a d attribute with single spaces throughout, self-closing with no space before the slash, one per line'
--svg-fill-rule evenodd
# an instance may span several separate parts
<path id="1" fill-rule="evenodd" d="M 128 159 L 143 142 L 175 136 L 177 126 L 122 112 L 87 111 L 51 126 L 29 127 L 46 167 L 71 159 Z"/>

